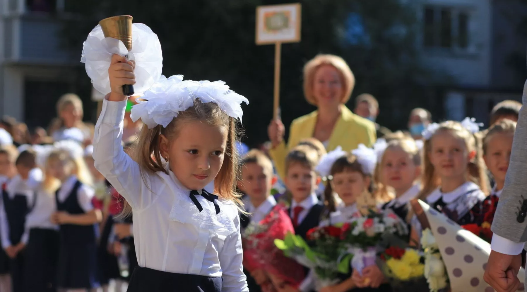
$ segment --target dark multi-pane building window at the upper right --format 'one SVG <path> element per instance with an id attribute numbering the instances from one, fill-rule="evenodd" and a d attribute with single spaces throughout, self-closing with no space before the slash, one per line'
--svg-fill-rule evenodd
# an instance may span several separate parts
<path id="1" fill-rule="evenodd" d="M 467 9 L 425 6 L 423 45 L 427 48 L 468 49 L 470 13 Z"/>

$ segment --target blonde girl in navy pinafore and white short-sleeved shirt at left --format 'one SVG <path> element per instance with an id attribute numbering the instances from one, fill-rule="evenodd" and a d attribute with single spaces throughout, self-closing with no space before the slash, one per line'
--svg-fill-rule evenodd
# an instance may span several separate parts
<path id="1" fill-rule="evenodd" d="M 96 223 L 101 220 L 101 213 L 93 208 L 93 189 L 81 182 L 81 178 L 89 178 L 82 157 L 74 158 L 71 151 L 58 150 L 50 154 L 48 164 L 62 182 L 55 192 L 57 212 L 53 214 L 60 226 L 57 286 L 66 291 L 97 288 Z"/>

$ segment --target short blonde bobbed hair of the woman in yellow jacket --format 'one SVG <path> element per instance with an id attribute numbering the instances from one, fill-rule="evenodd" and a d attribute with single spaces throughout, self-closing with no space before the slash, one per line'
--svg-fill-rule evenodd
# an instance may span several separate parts
<path id="1" fill-rule="evenodd" d="M 351 69 L 349 69 L 346 61 L 335 55 L 317 55 L 315 58 L 309 60 L 304 66 L 304 97 L 311 105 L 316 106 L 317 100 L 313 95 L 313 85 L 315 83 L 315 74 L 321 66 L 330 65 L 337 69 L 338 74 L 343 82 L 344 94 L 341 103 L 348 102 L 352 96 L 353 88 L 355 87 L 355 76 Z"/>

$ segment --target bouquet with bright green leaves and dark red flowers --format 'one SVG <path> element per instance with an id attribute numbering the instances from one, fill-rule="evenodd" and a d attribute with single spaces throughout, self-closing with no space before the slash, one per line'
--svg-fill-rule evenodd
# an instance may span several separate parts
<path id="1" fill-rule="evenodd" d="M 318 284 L 324 287 L 339 281 L 337 263 L 341 254 L 342 231 L 343 227 L 338 225 L 315 227 L 306 234 L 310 245 L 299 235 L 291 233 L 284 240 L 276 239 L 275 244 L 286 256 L 313 269 Z"/>

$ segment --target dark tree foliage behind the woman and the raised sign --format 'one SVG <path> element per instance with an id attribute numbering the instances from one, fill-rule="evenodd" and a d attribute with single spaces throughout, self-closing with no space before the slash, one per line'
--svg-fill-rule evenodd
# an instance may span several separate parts
<path id="1" fill-rule="evenodd" d="M 302 67 L 319 53 L 343 56 L 354 71 L 353 96 L 369 92 L 379 99 L 380 123 L 404 128 L 414 106 L 426 107 L 430 76 L 418 66 L 415 11 L 400 0 L 304 0 L 302 40 L 282 45 L 281 109 L 286 126 L 315 108 L 302 94 Z M 245 95 L 243 124 L 250 145 L 267 139 L 272 117 L 274 47 L 255 45 L 258 0 L 90 0 L 71 1 L 80 15 L 64 26 L 65 45 L 80 51 L 97 22 L 129 14 L 158 34 L 163 74 L 187 79 L 224 80 Z M 86 78 L 87 79 L 87 78 Z M 86 81 L 86 82 L 89 82 Z M 353 108 L 353 99 L 348 107 Z M 388 122 L 389 121 L 389 122 Z"/>

